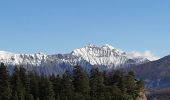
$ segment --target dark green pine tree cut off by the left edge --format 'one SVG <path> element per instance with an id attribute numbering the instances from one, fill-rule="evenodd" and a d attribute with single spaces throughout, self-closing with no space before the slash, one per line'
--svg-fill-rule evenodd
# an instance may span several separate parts
<path id="1" fill-rule="evenodd" d="M 0 65 L 0 100 L 10 100 L 11 89 L 9 84 L 9 75 L 6 66 Z"/>

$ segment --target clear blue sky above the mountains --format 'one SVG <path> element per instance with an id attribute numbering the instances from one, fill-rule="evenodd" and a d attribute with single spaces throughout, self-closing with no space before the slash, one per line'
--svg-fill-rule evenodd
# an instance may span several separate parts
<path id="1" fill-rule="evenodd" d="M 2 0 L 0 50 L 66 53 L 92 43 L 170 54 L 169 0 Z"/>

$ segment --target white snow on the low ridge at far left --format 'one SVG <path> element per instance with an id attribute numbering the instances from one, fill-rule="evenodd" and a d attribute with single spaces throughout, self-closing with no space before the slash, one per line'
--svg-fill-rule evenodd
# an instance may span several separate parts
<path id="1" fill-rule="evenodd" d="M 0 62 L 8 65 L 34 65 L 39 66 L 46 59 L 47 55 L 36 54 L 15 54 L 6 51 L 0 51 Z"/>

